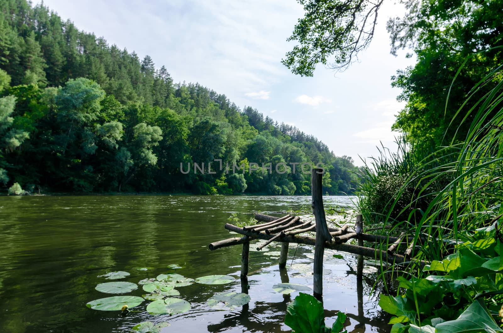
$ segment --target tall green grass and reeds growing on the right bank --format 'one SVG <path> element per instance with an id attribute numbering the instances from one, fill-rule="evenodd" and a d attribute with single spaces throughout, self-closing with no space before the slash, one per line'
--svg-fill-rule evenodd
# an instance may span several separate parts
<path id="1" fill-rule="evenodd" d="M 456 117 L 460 127 L 470 122 L 468 133 L 457 131 L 431 151 L 416 150 L 404 136 L 396 153 L 382 147 L 364 168 L 358 205 L 365 221 L 413 235 L 415 259 L 442 260 L 466 231 L 502 217 L 501 78 L 498 67 L 467 93 Z"/>

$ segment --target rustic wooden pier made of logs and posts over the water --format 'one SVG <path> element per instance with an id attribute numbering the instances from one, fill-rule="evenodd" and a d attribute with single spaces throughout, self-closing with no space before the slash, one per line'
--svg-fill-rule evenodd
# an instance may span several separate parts
<path id="1" fill-rule="evenodd" d="M 322 170 L 314 169 L 311 175 L 312 186 L 312 209 L 315 223 L 303 222 L 297 216 L 285 215 L 274 217 L 264 214 L 255 214 L 259 222 L 256 225 L 238 227 L 233 224 L 225 224 L 225 229 L 241 234 L 242 237 L 233 237 L 209 244 L 209 249 L 215 249 L 242 244 L 241 253 L 241 278 L 248 275 L 248 256 L 250 241 L 262 239 L 265 242 L 257 247 L 260 251 L 273 241 L 281 242 L 281 253 L 279 266 L 284 268 L 288 257 L 288 247 L 290 243 L 305 244 L 314 246 L 314 273 L 313 273 L 313 294 L 321 299 L 323 295 L 322 272 L 323 272 L 323 252 L 325 248 L 336 249 L 355 255 L 359 255 L 359 266 L 363 265 L 363 256 L 370 257 L 381 262 L 390 264 L 414 263 L 421 268 L 427 263 L 424 261 L 411 261 L 414 249 L 413 237 L 406 237 L 401 233 L 398 237 L 374 235 L 364 233 L 364 221 L 362 215 L 357 215 L 354 228 L 344 225 L 340 228 L 330 228 L 326 224 L 325 211 L 323 208 L 323 198 L 321 193 Z M 302 233 L 314 231 L 315 237 L 304 236 Z M 357 239 L 358 245 L 348 244 L 348 240 Z M 373 243 L 373 246 L 364 246 L 364 241 Z M 403 254 L 398 254 L 400 244 L 406 246 Z M 386 246 L 390 246 L 386 249 Z M 384 247 L 383 247 L 384 246 Z"/>

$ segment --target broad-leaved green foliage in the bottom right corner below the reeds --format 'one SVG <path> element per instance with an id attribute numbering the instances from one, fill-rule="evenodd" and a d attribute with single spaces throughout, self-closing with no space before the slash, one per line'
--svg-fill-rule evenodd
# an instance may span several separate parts
<path id="1" fill-rule="evenodd" d="M 490 315 L 498 314 L 503 301 L 503 243 L 496 229 L 495 224 L 464 234 L 466 241 L 456 245 L 454 254 L 425 266 L 425 272 L 440 275 L 398 277 L 405 293 L 379 300 L 383 310 L 395 315 L 390 323 L 401 331 L 412 331 L 412 325 L 430 325 L 438 332 L 503 331 Z"/>

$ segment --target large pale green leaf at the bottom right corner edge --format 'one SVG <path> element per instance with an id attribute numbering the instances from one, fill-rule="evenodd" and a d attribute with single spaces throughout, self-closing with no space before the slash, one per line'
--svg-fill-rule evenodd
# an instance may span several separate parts
<path id="1" fill-rule="evenodd" d="M 479 300 L 471 303 L 457 319 L 439 323 L 435 328 L 437 333 L 503 332 Z"/>

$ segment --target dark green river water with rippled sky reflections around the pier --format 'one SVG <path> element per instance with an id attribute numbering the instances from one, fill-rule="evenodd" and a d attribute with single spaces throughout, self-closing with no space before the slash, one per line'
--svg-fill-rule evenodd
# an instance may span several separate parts
<path id="1" fill-rule="evenodd" d="M 287 270 L 278 269 L 280 246 L 250 252 L 249 304 L 234 310 L 212 308 L 208 298 L 223 291 L 241 292 L 241 246 L 209 251 L 213 241 L 233 237 L 224 229 L 232 213 L 242 220 L 251 212 L 309 210 L 310 197 L 283 196 L 32 196 L 0 197 L 0 332 L 130 332 L 135 324 L 167 321 L 162 332 L 280 332 L 288 303 L 298 294 L 273 290 L 282 281 L 312 287 L 312 246 L 291 245 Z M 328 204 L 351 209 L 351 197 L 324 197 Z M 284 214 L 283 214 L 284 215 Z M 343 217 L 342 217 L 343 218 Z M 255 246 L 250 246 L 254 248 Z M 272 254 L 272 255 L 271 255 Z M 323 281 L 325 322 L 338 311 L 348 313 L 348 331 L 387 332 L 388 316 L 371 294 L 372 267 L 360 282 L 358 305 L 356 256 L 328 252 Z M 168 265 L 182 268 L 173 270 Z M 291 266 L 293 264 L 293 266 Z M 308 269 L 306 269 L 306 267 Z M 138 270 L 147 268 L 147 270 Z M 113 271 L 120 280 L 98 277 Z M 230 284 L 180 287 L 179 298 L 192 304 L 178 315 L 150 315 L 149 301 L 127 316 L 120 311 L 86 307 L 94 299 L 114 296 L 95 290 L 102 282 L 155 278 L 178 273 L 197 278 L 223 274 Z M 141 286 L 128 295 L 145 294 Z M 245 286 L 246 287 L 246 286 Z M 246 288 L 245 288 L 246 289 Z M 379 289 L 379 286 L 377 286 Z"/>

